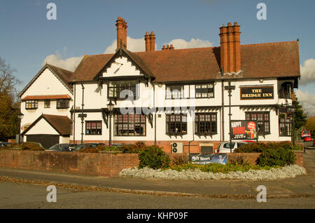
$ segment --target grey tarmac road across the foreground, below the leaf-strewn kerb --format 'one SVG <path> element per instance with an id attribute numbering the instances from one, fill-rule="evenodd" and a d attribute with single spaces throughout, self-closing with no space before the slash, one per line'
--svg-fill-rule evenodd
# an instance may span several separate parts
<path id="1" fill-rule="evenodd" d="M 110 208 L 110 209 L 217 209 L 217 208 L 315 208 L 314 197 L 230 199 L 202 196 L 153 196 L 106 191 L 57 189 L 57 202 L 48 202 L 45 186 L 0 184 L 0 208 Z"/>

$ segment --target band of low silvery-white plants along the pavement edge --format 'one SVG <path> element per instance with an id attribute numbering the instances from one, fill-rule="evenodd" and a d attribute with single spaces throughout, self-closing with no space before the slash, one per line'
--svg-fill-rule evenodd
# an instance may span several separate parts
<path id="1" fill-rule="evenodd" d="M 305 168 L 300 165 L 287 165 L 270 170 L 248 170 L 247 172 L 207 173 L 201 170 L 153 170 L 151 168 L 128 168 L 119 173 L 119 177 L 135 177 L 141 179 L 158 178 L 164 180 L 282 180 L 306 175 Z"/>

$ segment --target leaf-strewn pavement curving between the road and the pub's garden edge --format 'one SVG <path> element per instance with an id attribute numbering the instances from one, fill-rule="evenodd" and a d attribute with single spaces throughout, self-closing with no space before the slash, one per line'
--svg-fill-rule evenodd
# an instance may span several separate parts
<path id="1" fill-rule="evenodd" d="M 203 196 L 211 198 L 254 198 L 257 187 L 267 188 L 268 198 L 315 199 L 315 150 L 304 152 L 307 175 L 288 180 L 143 180 L 102 177 L 36 170 L 0 168 L 0 182 L 55 185 L 83 191 L 109 191 L 128 194 Z"/>

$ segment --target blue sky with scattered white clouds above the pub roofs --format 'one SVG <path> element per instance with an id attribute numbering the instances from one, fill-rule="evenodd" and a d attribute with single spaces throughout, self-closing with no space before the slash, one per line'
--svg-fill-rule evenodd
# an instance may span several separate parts
<path id="1" fill-rule="evenodd" d="M 57 20 L 46 18 L 50 2 L 57 6 Z M 260 2 L 267 6 L 267 20 L 256 18 Z M 69 69 L 85 54 L 104 53 L 116 39 L 118 16 L 126 20 L 132 39 L 154 31 L 158 49 L 174 39 L 188 47 L 219 46 L 218 28 L 238 22 L 241 44 L 300 39 L 303 69 L 297 96 L 315 114 L 314 8 L 311 0 L 0 0 L 0 57 L 18 70 L 22 90 L 44 62 Z"/>

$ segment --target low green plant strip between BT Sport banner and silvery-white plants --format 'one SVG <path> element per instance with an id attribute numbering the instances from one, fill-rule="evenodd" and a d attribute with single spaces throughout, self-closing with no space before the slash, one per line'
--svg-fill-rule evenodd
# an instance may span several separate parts
<path id="1" fill-rule="evenodd" d="M 200 165 L 200 164 L 183 164 L 183 165 L 171 165 L 169 169 L 182 171 L 182 170 L 201 170 L 202 172 L 207 173 L 229 173 L 229 172 L 246 172 L 248 170 L 269 170 L 270 166 L 260 166 L 260 165 L 252 165 L 252 164 L 233 164 L 233 163 L 227 163 L 227 164 L 221 164 L 221 163 L 208 163 L 206 165 Z"/>

